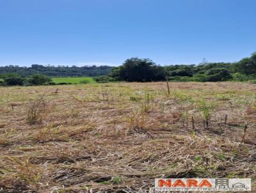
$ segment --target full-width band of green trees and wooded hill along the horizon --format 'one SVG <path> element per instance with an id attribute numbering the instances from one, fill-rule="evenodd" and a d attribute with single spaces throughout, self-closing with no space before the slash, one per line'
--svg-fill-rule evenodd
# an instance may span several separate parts
<path id="1" fill-rule="evenodd" d="M 54 70 L 56 72 L 51 72 Z M 165 81 L 166 79 L 179 82 L 254 81 L 256 79 L 256 52 L 235 63 L 203 61 L 198 65 L 160 66 L 148 58 L 129 58 L 117 67 L 32 65 L 26 68 L 4 66 L 0 67 L 0 79 L 3 80 L 0 81 L 0 84 L 25 86 L 54 84 L 50 77 L 54 77 L 56 74 L 70 77 L 89 76 L 88 74 L 90 74 L 94 76 L 96 82 L 150 82 Z"/>

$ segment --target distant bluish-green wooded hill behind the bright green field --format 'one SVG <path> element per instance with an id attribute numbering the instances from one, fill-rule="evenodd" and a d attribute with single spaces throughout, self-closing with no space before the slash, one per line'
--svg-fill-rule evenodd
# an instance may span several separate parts
<path id="1" fill-rule="evenodd" d="M 49 77 L 97 77 L 99 75 L 107 75 L 111 72 L 112 66 L 43 66 L 31 65 L 31 67 L 20 66 L 0 66 L 0 74 L 19 73 L 20 75 L 32 75 L 42 73 Z"/>

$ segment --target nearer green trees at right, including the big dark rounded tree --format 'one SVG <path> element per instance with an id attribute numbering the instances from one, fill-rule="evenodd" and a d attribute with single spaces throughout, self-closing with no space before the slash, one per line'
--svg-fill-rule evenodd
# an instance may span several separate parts
<path id="1" fill-rule="evenodd" d="M 111 80 L 127 82 L 149 81 L 248 81 L 256 79 L 256 52 L 236 63 L 159 66 L 150 59 L 130 58 L 113 68 Z M 104 77 L 106 79 L 106 77 Z"/>

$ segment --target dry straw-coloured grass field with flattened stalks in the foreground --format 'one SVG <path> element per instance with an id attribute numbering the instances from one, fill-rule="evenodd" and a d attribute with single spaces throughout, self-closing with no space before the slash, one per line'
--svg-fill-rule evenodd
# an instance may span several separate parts
<path id="1" fill-rule="evenodd" d="M 158 177 L 256 192 L 255 116 L 242 82 L 0 88 L 0 192 L 154 192 Z"/>

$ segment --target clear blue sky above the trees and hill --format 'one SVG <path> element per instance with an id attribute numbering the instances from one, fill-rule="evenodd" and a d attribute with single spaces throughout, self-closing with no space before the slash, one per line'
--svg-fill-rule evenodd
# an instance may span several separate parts
<path id="1" fill-rule="evenodd" d="M 256 51 L 255 0 L 0 0 L 0 65 L 238 61 Z"/>

